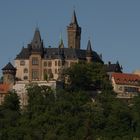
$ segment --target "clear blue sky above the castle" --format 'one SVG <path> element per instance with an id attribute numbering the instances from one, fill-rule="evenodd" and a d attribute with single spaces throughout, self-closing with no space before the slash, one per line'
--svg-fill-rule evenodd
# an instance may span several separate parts
<path id="1" fill-rule="evenodd" d="M 140 0 L 0 0 L 0 69 L 14 63 L 39 27 L 45 47 L 67 47 L 67 26 L 75 9 L 82 28 L 81 48 L 119 61 L 123 71 L 140 69 Z M 1 72 L 0 72 L 1 73 Z"/>

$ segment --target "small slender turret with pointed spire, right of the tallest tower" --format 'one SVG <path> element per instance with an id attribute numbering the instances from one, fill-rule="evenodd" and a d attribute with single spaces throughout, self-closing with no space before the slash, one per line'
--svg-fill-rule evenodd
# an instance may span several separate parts
<path id="1" fill-rule="evenodd" d="M 90 40 L 88 40 L 88 45 L 87 45 L 87 50 L 86 50 L 86 59 L 88 63 L 92 62 L 93 60 L 93 51 L 92 51 Z"/>

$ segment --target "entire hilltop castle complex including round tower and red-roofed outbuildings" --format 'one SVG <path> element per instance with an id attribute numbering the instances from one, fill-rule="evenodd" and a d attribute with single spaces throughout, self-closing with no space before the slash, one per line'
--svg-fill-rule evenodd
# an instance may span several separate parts
<path id="1" fill-rule="evenodd" d="M 36 82 L 56 88 L 61 81 L 62 71 L 79 62 L 98 62 L 104 64 L 101 56 L 92 50 L 88 40 L 86 49 L 81 49 L 81 27 L 73 11 L 70 24 L 67 26 L 68 47 L 61 38 L 56 48 L 45 47 L 39 28 L 35 29 L 32 41 L 23 47 L 15 58 L 15 67 L 9 62 L 3 69 L 3 83 L 0 84 L 0 104 L 10 89 L 15 89 L 21 105 L 27 104 L 26 85 Z M 104 65 L 113 89 L 120 98 L 131 98 L 140 91 L 140 77 L 134 74 L 123 74 L 122 66 L 109 62 Z M 117 74 L 115 74 L 117 73 Z M 119 79 L 119 81 L 118 81 Z M 47 81 L 47 82 L 46 82 Z"/>

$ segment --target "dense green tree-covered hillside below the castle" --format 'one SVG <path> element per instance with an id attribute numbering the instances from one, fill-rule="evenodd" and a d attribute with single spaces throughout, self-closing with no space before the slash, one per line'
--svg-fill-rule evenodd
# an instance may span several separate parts
<path id="1" fill-rule="evenodd" d="M 0 106 L 0 140 L 134 140 L 140 138 L 140 96 L 116 98 L 104 66 L 76 64 L 64 89 L 29 85 L 20 109 L 15 92 Z M 93 90 L 100 90 L 94 97 Z"/>

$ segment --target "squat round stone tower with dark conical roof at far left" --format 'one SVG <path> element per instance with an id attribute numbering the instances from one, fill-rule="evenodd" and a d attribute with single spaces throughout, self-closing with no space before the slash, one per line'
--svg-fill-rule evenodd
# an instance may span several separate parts
<path id="1" fill-rule="evenodd" d="M 15 83 L 16 68 L 9 62 L 3 69 L 3 83 L 13 85 Z"/>

